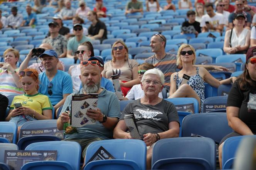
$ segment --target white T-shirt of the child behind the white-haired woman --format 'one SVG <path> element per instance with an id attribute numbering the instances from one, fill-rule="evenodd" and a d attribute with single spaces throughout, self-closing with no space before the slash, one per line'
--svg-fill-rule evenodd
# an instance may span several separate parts
<path id="1" fill-rule="evenodd" d="M 125 97 L 129 100 L 137 100 L 138 98 L 144 97 L 144 91 L 141 89 L 140 84 L 136 84 Z M 158 97 L 163 98 L 162 92 L 158 94 Z"/>

